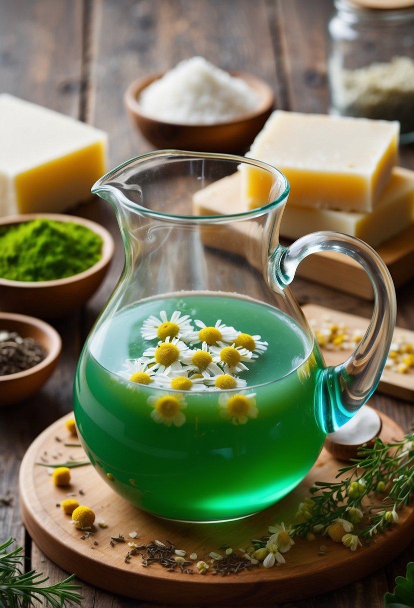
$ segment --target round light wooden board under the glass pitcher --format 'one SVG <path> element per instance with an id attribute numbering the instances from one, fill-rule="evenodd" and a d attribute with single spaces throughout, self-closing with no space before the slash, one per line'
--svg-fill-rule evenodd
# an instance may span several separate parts
<path id="1" fill-rule="evenodd" d="M 277 601 L 294 601 L 342 587 L 368 575 L 391 561 L 414 536 L 413 508 L 399 513 L 399 524 L 375 536 L 368 546 L 351 552 L 329 538 L 317 537 L 308 542 L 295 539 L 294 547 L 285 554 L 286 564 L 280 567 L 254 567 L 238 575 L 193 575 L 168 572 L 158 564 L 141 565 L 139 555 L 124 562 L 131 531 L 137 531 L 135 542 L 145 544 L 158 539 L 171 541 L 177 548 L 197 553 L 209 562 L 208 554 L 228 544 L 235 550 L 248 547 L 250 539 L 268 534 L 268 526 L 293 520 L 297 505 L 308 496 L 308 488 L 316 480 L 333 481 L 338 468 L 344 466 L 323 449 L 305 480 L 285 499 L 261 513 L 234 522 L 214 524 L 176 523 L 152 517 L 127 503 L 107 485 L 92 466 L 72 468 L 72 484 L 66 488 L 53 485 L 46 466 L 49 461 L 61 463 L 70 458 L 84 459 L 81 447 L 64 424 L 65 416 L 48 427 L 29 447 L 21 465 L 19 489 L 22 519 L 30 536 L 46 555 L 69 573 L 112 593 L 154 603 L 185 605 L 238 604 L 258 605 Z M 383 441 L 401 439 L 401 428 L 381 414 Z M 93 527 L 93 545 L 70 523 L 59 503 L 68 493 L 76 494 L 81 505 L 95 512 L 97 522 L 106 528 Z M 125 543 L 110 545 L 110 537 L 123 534 Z M 324 555 L 320 555 L 321 545 Z"/>

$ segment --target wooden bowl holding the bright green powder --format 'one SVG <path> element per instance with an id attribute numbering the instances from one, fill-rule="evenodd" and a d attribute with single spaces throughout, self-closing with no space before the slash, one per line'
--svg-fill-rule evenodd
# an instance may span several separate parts
<path id="1" fill-rule="evenodd" d="M 98 289 L 114 254 L 114 240 L 100 224 L 89 219 L 60 213 L 28 213 L 0 218 L 0 226 L 48 218 L 75 222 L 96 232 L 103 239 L 102 257 L 84 272 L 52 281 L 12 281 L 0 277 L 0 309 L 52 319 L 82 306 Z"/>

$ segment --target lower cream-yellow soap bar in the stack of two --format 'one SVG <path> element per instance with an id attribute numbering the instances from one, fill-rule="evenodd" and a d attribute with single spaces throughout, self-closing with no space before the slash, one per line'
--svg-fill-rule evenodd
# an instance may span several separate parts
<path id="1" fill-rule="evenodd" d="M 391 179 L 372 212 L 285 207 L 280 235 L 295 240 L 316 230 L 336 230 L 377 247 L 414 221 L 414 171 L 393 168 Z"/>

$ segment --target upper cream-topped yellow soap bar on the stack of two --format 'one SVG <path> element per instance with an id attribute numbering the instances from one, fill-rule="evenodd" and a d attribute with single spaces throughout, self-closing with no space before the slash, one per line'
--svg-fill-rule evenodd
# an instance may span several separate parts
<path id="1" fill-rule="evenodd" d="M 398 162 L 399 123 L 276 110 L 246 156 L 285 174 L 288 204 L 372 211 Z M 243 167 L 243 193 L 261 206 L 265 187 Z"/>

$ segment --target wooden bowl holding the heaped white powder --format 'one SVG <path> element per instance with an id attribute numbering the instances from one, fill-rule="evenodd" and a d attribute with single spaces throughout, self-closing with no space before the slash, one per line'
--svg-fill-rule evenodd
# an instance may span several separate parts
<path id="1" fill-rule="evenodd" d="M 259 94 L 256 111 L 236 120 L 211 125 L 186 125 L 163 122 L 145 114 L 138 103 L 141 91 L 163 74 L 151 74 L 138 78 L 129 85 L 124 94 L 124 104 L 132 123 L 156 148 L 190 150 L 197 152 L 242 153 L 262 129 L 270 116 L 274 104 L 271 87 L 260 78 L 246 72 L 229 72 L 243 78 Z"/>

